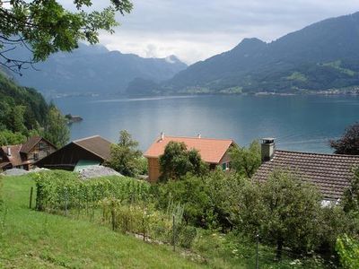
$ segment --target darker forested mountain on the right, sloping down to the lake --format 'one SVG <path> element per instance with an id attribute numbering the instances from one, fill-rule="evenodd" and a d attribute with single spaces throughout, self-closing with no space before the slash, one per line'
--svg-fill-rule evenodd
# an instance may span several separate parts
<path id="1" fill-rule="evenodd" d="M 359 86 L 359 13 L 328 19 L 271 43 L 243 39 L 188 66 L 162 92 L 302 92 Z"/>

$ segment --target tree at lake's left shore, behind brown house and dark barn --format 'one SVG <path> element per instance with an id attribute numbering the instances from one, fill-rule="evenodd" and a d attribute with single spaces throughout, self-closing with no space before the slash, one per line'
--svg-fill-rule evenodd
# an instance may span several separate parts
<path id="1" fill-rule="evenodd" d="M 64 146 L 70 140 L 70 130 L 66 118 L 54 105 L 50 105 L 42 133 L 42 136 L 55 144 L 57 148 Z"/>

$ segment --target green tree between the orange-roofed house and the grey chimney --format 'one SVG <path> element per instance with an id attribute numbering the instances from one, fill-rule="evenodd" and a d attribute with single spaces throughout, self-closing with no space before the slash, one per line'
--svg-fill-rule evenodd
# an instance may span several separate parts
<path id="1" fill-rule="evenodd" d="M 237 173 L 251 178 L 261 164 L 260 144 L 257 140 L 250 143 L 249 148 L 232 147 L 231 165 Z"/>

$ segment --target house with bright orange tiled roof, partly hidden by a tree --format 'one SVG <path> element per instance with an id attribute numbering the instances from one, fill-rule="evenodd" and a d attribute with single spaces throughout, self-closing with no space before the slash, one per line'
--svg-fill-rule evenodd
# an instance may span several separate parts
<path id="1" fill-rule="evenodd" d="M 144 157 L 148 160 L 148 180 L 150 182 L 156 182 L 160 177 L 159 158 L 166 145 L 171 141 L 185 143 L 188 150 L 197 150 L 202 161 L 209 164 L 210 169 L 215 169 L 217 166 L 221 166 L 224 170 L 230 169 L 231 159 L 228 151 L 235 144 L 232 139 L 202 138 L 200 134 L 197 137 L 167 136 L 162 133 L 144 152 Z"/>

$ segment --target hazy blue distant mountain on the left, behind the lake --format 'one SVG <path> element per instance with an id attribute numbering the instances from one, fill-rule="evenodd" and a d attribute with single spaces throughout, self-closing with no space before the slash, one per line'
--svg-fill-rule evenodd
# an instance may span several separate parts
<path id="1" fill-rule="evenodd" d="M 23 52 L 16 52 L 23 54 Z M 21 55 L 23 58 L 23 55 Z M 124 92 L 136 78 L 161 82 L 185 69 L 176 56 L 143 58 L 80 44 L 72 53 L 59 52 L 22 71 L 16 80 L 42 92 L 60 94 L 113 94 Z"/>

